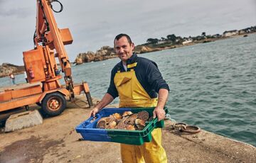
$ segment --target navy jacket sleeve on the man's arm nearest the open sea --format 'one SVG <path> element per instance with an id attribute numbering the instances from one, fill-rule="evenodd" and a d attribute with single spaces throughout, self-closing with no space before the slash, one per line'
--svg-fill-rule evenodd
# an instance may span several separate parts
<path id="1" fill-rule="evenodd" d="M 149 64 L 146 65 L 145 74 L 149 85 L 151 85 L 151 88 L 157 93 L 159 92 L 159 89 L 167 89 L 170 91 L 168 84 L 161 76 L 161 72 L 159 72 L 155 62 L 149 62 Z"/>

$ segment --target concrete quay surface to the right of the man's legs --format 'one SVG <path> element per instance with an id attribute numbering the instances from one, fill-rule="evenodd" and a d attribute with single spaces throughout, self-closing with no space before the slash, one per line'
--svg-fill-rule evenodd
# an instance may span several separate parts
<path id="1" fill-rule="evenodd" d="M 167 120 L 163 129 L 163 144 L 171 158 L 170 162 L 255 162 L 256 160 L 256 148 L 252 145 L 205 130 L 192 135 L 183 133 L 174 130 L 173 124 L 174 122 Z M 164 137 L 172 138 L 169 140 Z"/>

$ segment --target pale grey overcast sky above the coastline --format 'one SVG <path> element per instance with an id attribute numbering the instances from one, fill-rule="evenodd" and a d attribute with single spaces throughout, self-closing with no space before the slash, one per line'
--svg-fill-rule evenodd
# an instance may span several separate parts
<path id="1" fill-rule="evenodd" d="M 70 28 L 70 62 L 81 52 L 113 47 L 119 33 L 135 45 L 166 35 L 222 34 L 256 26 L 256 0 L 59 0 L 58 28 Z M 55 9 L 58 6 L 55 5 Z M 23 65 L 23 51 L 33 49 L 36 0 L 0 0 L 0 64 Z"/>

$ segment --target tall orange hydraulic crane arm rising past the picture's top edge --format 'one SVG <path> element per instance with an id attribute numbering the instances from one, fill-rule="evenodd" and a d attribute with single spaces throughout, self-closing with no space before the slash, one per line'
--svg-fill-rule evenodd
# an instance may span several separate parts
<path id="1" fill-rule="evenodd" d="M 49 48 L 50 50 L 55 50 L 55 56 L 58 57 L 60 67 L 62 72 L 65 74 L 65 83 L 67 89 L 73 94 L 73 81 L 72 81 L 72 72 L 70 61 L 68 59 L 67 52 L 64 45 L 71 44 L 73 42 L 72 36 L 68 28 L 59 29 L 55 18 L 53 16 L 53 10 L 51 3 L 58 2 L 58 0 L 37 0 L 37 17 L 36 17 L 36 31 L 34 35 L 34 43 L 36 48 L 39 46 L 46 47 L 46 51 Z M 61 11 L 63 9 L 62 4 Z M 58 11 L 60 12 L 60 11 Z M 50 52 L 50 50 L 48 50 Z M 49 60 L 47 60 L 49 58 Z M 54 71 L 56 64 L 55 61 L 50 60 L 50 57 L 46 56 L 47 69 Z M 46 70 L 47 70 L 46 69 Z M 50 74 L 50 72 L 46 72 Z"/>

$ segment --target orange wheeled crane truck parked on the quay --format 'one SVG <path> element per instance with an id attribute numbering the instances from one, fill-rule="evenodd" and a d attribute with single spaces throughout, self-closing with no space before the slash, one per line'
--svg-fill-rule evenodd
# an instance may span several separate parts
<path id="1" fill-rule="evenodd" d="M 60 4 L 60 11 L 63 10 L 58 0 L 36 0 L 34 49 L 23 52 L 29 84 L 0 90 L 0 114 L 37 103 L 48 116 L 58 116 L 66 107 L 66 97 L 75 101 L 75 95 L 82 91 L 85 91 L 87 103 L 92 106 L 87 83 L 73 84 L 71 65 L 64 47 L 73 43 L 73 38 L 68 28 L 58 28 L 53 16 L 53 2 Z M 58 58 L 64 73 L 65 86 L 60 84 L 62 76 L 55 58 Z"/>

